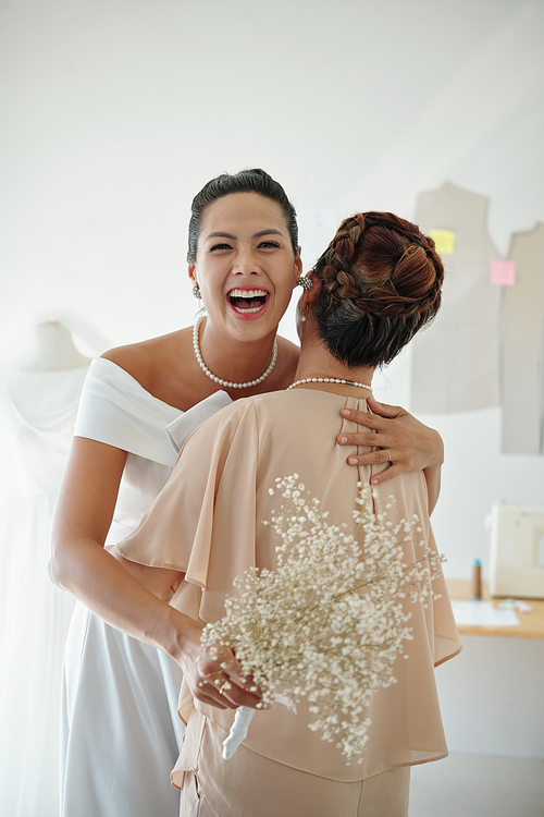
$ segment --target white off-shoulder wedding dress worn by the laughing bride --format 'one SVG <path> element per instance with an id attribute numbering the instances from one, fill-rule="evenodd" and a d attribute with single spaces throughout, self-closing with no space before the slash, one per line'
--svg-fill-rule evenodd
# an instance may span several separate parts
<path id="1" fill-rule="evenodd" d="M 187 436 L 228 403 L 215 392 L 183 413 L 114 363 L 92 362 L 74 434 L 128 452 L 107 547 L 146 513 Z M 177 817 L 170 772 L 183 740 L 180 685 L 169 656 L 76 603 L 65 654 L 61 817 Z"/>

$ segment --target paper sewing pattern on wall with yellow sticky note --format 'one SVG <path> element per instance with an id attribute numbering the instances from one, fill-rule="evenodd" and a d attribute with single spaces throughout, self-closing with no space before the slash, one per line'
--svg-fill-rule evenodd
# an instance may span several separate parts
<path id="1" fill-rule="evenodd" d="M 438 315 L 411 342 L 415 412 L 499 404 L 500 289 L 490 285 L 498 253 L 487 234 L 487 200 L 449 182 L 418 197 L 416 222 L 438 237 L 446 276 Z"/>

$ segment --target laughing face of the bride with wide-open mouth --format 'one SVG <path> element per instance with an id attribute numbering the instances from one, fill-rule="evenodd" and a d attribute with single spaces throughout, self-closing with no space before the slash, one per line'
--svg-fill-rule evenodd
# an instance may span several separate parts
<path id="1" fill-rule="evenodd" d="M 275 202 L 259 193 L 232 193 L 207 207 L 189 276 L 213 326 L 239 340 L 274 332 L 300 270 Z"/>

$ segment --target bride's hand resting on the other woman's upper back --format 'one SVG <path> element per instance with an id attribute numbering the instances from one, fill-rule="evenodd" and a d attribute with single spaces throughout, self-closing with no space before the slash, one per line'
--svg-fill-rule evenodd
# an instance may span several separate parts
<path id="1" fill-rule="evenodd" d="M 372 485 L 385 483 L 405 471 L 440 471 L 444 462 L 442 437 L 423 425 L 400 406 L 379 403 L 368 399 L 371 413 L 343 410 L 342 416 L 366 426 L 370 431 L 343 434 L 341 446 L 372 446 L 379 448 L 368 454 L 351 454 L 349 465 L 375 465 L 390 462 L 388 468 L 372 477 Z"/>

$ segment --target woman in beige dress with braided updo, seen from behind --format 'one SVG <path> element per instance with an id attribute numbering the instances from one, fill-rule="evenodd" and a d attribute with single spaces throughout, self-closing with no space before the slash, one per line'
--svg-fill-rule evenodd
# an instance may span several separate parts
<path id="1" fill-rule="evenodd" d="M 413 641 L 395 662 L 397 683 L 379 690 L 369 710 L 362 763 L 346 765 L 334 744 L 308 729 L 304 705 L 257 712 L 235 755 L 221 754 L 240 704 L 256 707 L 228 650 L 199 656 L 206 622 L 224 614 L 233 578 L 272 568 L 270 520 L 277 477 L 298 474 L 334 523 L 350 524 L 357 481 L 382 466 L 346 467 L 335 439 L 354 430 L 354 412 L 370 411 L 372 375 L 429 324 L 441 303 L 442 263 L 432 240 L 391 214 L 347 219 L 310 273 L 299 302 L 299 363 L 292 388 L 237 401 L 185 443 L 169 484 L 136 531 L 118 545 L 129 571 L 151 590 L 119 607 L 133 632 L 184 668 L 184 747 L 172 773 L 182 815 L 217 817 L 355 817 L 408 814 L 409 769 L 447 754 L 434 668 L 460 649 L 443 576 L 429 605 L 406 601 Z M 344 419 L 342 419 L 342 417 Z M 355 453 L 355 450 L 354 450 Z M 390 520 L 416 514 L 432 549 L 423 472 L 379 485 Z M 353 498 L 353 499 L 351 499 Z M 357 535 L 357 534 L 356 534 Z M 419 541 L 403 542 L 407 564 Z M 164 600 L 171 594 L 170 605 Z"/>

